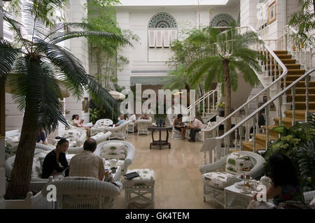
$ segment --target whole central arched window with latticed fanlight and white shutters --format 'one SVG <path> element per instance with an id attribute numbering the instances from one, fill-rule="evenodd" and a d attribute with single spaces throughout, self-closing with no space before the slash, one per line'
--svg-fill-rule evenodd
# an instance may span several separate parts
<path id="1" fill-rule="evenodd" d="M 169 13 L 158 13 L 148 22 L 149 48 L 169 48 L 177 39 L 177 22 Z"/>

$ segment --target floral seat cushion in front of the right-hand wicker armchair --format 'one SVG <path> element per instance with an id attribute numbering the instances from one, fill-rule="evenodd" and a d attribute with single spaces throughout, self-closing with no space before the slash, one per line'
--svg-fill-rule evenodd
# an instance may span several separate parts
<path id="1" fill-rule="evenodd" d="M 234 177 L 231 173 L 226 172 L 211 172 L 211 173 L 204 173 L 202 175 L 202 181 L 204 185 L 209 185 L 210 187 L 215 187 L 218 189 L 224 189 L 228 187 L 228 178 Z"/>

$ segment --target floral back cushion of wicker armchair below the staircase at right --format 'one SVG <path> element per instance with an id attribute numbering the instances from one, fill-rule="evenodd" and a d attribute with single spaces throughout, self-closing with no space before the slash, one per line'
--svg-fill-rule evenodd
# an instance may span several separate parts
<path id="1" fill-rule="evenodd" d="M 225 171 L 232 174 L 240 174 L 253 168 L 253 159 L 239 152 L 233 152 L 226 160 Z"/>

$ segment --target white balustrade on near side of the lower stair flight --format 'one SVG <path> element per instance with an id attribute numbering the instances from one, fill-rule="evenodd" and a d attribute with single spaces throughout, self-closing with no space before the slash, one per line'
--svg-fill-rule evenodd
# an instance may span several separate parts
<path id="1" fill-rule="evenodd" d="M 269 116 L 269 106 L 274 103 L 274 101 L 278 100 L 279 101 L 279 114 L 282 113 L 281 110 L 281 103 L 282 103 L 282 99 L 283 96 L 286 94 L 286 92 L 288 92 L 289 90 L 291 90 L 292 95 L 293 95 L 293 100 L 292 100 L 292 106 L 293 106 L 293 123 L 295 122 L 295 88 L 297 87 L 297 84 L 299 84 L 302 80 L 304 80 L 305 83 L 305 105 L 306 105 L 306 110 L 305 110 L 305 119 L 307 119 L 307 117 L 309 116 L 309 80 L 311 77 L 311 73 L 314 73 L 315 69 L 311 69 L 310 71 L 304 73 L 304 75 L 302 75 L 300 78 L 297 78 L 297 80 L 295 80 L 294 82 L 292 82 L 290 85 L 288 85 L 288 87 L 284 87 L 281 92 L 279 92 L 278 94 L 276 94 L 275 96 L 272 97 L 272 99 L 269 99 L 269 101 L 267 101 L 266 103 L 264 103 L 262 106 L 260 106 L 259 108 L 257 108 L 253 113 L 251 113 L 251 115 L 248 115 L 246 118 L 244 118 L 244 120 L 241 120 L 241 122 L 239 122 L 238 124 L 235 125 L 235 127 L 233 127 L 232 129 L 230 129 L 229 131 L 227 131 L 225 134 L 223 134 L 222 136 L 218 136 L 216 137 L 216 148 L 215 148 L 215 157 L 216 159 L 218 159 L 219 157 L 223 157 L 225 154 L 228 154 L 228 152 L 230 152 L 230 138 L 232 136 L 233 133 L 235 133 L 235 136 L 238 136 L 237 132 L 241 133 L 243 131 L 243 127 L 246 123 L 248 122 L 253 122 L 253 152 L 256 152 L 255 150 L 255 134 L 256 134 L 256 126 L 257 126 L 257 120 L 258 120 L 258 112 L 260 112 L 261 110 L 265 109 L 265 113 L 266 113 L 266 120 L 268 120 L 268 116 Z M 281 123 L 281 115 L 279 117 L 279 123 Z M 280 124 L 281 125 L 281 124 Z M 265 149 L 267 150 L 268 146 L 269 146 L 269 122 L 266 122 L 266 135 L 267 135 L 267 139 L 266 139 L 266 144 L 265 144 Z M 221 143 L 223 142 L 223 148 L 221 146 Z M 241 136 L 241 134 L 239 134 L 239 137 L 235 137 L 235 149 L 236 150 L 242 150 L 242 142 L 243 142 L 243 138 Z"/>

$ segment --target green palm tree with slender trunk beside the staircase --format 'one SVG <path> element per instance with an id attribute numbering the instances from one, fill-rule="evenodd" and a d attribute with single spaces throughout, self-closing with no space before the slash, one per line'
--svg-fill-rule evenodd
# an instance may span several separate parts
<path id="1" fill-rule="evenodd" d="M 210 28 L 209 34 L 217 29 Z M 211 35 L 213 36 L 213 35 Z M 243 73 L 243 78 L 250 85 L 258 83 L 256 72 L 261 72 L 258 59 L 264 57 L 248 45 L 260 43 L 260 39 L 253 31 L 240 33 L 232 27 L 216 36 L 216 43 L 211 44 L 209 54 L 201 59 L 196 59 L 188 72 L 193 75 L 193 84 L 206 76 L 205 85 L 209 88 L 217 79 L 221 83 L 222 94 L 225 96 L 225 117 L 231 113 L 231 90 L 237 90 L 237 73 Z M 207 43 L 204 43 L 207 44 Z M 231 128 L 231 120 L 226 123 L 225 131 Z"/>

